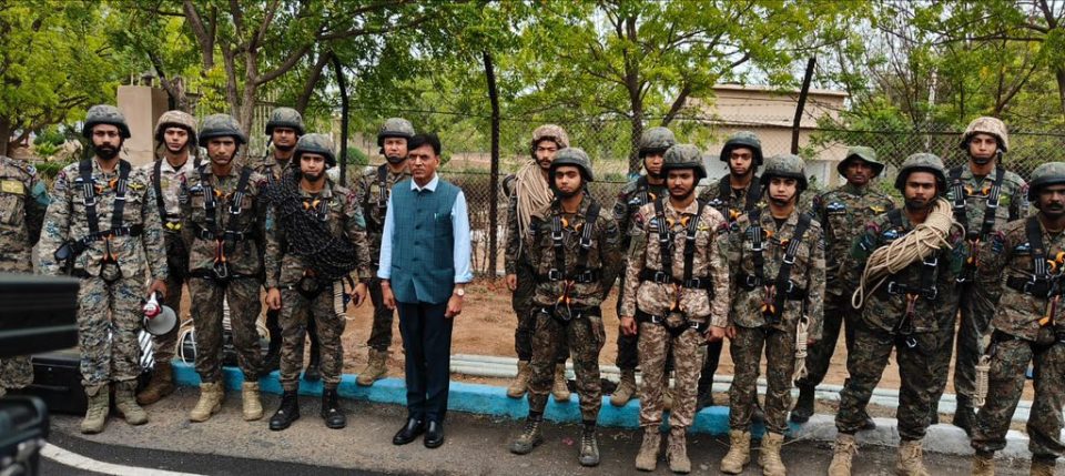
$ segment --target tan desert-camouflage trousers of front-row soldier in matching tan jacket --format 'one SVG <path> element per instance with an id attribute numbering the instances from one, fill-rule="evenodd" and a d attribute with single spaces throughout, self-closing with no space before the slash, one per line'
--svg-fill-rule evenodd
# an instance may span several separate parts
<path id="1" fill-rule="evenodd" d="M 693 328 L 674 337 L 661 324 L 642 322 L 639 327 L 640 369 L 643 373 L 640 383 L 640 427 L 658 428 L 662 424 L 662 392 L 666 389 L 662 383 L 667 356 L 671 354 L 677 382 L 672 392 L 669 426 L 687 428 L 696 416 L 696 394 L 699 371 L 702 368 L 700 347 L 707 338 Z"/>

